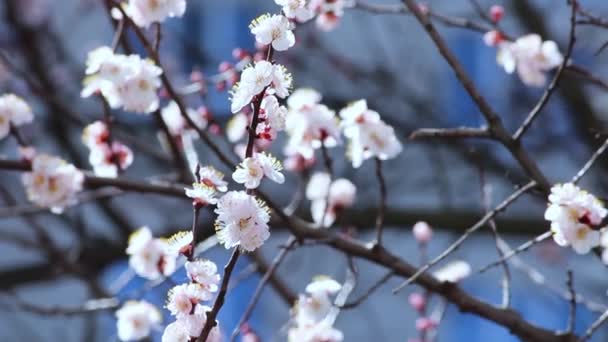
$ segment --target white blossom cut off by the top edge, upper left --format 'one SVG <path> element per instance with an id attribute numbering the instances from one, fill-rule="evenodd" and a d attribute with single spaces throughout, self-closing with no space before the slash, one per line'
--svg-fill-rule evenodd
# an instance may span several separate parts
<path id="1" fill-rule="evenodd" d="M 125 12 L 137 26 L 146 28 L 167 18 L 183 16 L 186 0 L 129 0 Z"/>

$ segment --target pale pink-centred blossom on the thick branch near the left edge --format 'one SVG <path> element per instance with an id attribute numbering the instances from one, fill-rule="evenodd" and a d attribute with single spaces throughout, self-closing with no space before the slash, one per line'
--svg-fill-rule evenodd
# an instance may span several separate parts
<path id="1" fill-rule="evenodd" d="M 61 213 L 78 202 L 84 174 L 61 158 L 38 154 L 32 160 L 32 171 L 24 173 L 22 181 L 30 201 Z"/>

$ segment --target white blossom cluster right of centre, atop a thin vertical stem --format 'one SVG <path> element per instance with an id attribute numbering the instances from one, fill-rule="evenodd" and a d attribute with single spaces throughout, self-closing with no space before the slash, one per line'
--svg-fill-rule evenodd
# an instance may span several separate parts
<path id="1" fill-rule="evenodd" d="M 393 127 L 380 119 L 380 115 L 367 108 L 365 100 L 351 103 L 340 111 L 341 127 L 349 139 L 347 154 L 353 167 L 375 157 L 380 160 L 395 158 L 403 147 Z"/>

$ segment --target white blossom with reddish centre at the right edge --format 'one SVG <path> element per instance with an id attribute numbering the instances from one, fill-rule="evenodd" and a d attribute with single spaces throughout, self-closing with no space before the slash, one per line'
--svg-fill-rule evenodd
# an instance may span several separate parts
<path id="1" fill-rule="evenodd" d="M 573 183 L 551 188 L 545 219 L 551 222 L 553 239 L 560 246 L 572 246 L 586 254 L 600 244 L 599 228 L 608 211 L 592 194 Z"/>

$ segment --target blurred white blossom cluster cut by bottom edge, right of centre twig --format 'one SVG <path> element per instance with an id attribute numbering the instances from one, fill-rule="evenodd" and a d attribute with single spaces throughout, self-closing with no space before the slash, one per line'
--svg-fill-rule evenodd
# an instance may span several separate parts
<path id="1" fill-rule="evenodd" d="M 336 310 L 331 297 L 342 286 L 327 276 L 317 276 L 306 286 L 307 294 L 300 294 L 292 308 L 292 326 L 289 342 L 339 342 L 344 339 L 340 330 L 333 327 Z"/>

